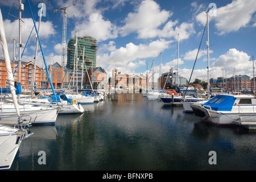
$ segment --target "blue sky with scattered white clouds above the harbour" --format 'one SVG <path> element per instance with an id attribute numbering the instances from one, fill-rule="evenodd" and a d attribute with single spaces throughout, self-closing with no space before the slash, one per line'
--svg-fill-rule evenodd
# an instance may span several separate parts
<path id="1" fill-rule="evenodd" d="M 19 16 L 18 2 L 0 1 L 11 60 L 13 39 L 18 45 L 19 23 L 14 17 Z M 39 1 L 29 2 L 32 14 L 37 19 Z M 46 16 L 42 16 L 39 37 L 47 64 L 61 64 L 63 10 L 56 14 L 53 11 L 75 2 L 77 0 L 43 1 Z M 22 51 L 27 43 L 22 61 L 34 61 L 34 24 L 28 0 L 22 0 L 22 3 Z M 143 73 L 146 76 L 147 69 L 152 74 L 154 60 L 155 78 L 159 73 L 179 67 L 179 75 L 189 80 L 195 64 L 191 81 L 195 78 L 207 81 L 207 30 L 203 36 L 207 10 L 210 78 L 232 77 L 235 74 L 253 78 L 253 56 L 256 56 L 255 0 L 86 0 L 67 8 L 67 42 L 75 36 L 76 31 L 78 36 L 96 38 L 97 67 L 104 68 L 109 75 L 112 69 L 118 69 L 121 73 Z M 18 58 L 17 49 L 15 57 Z M 41 52 L 38 52 L 36 64 L 39 67 L 43 65 Z"/>

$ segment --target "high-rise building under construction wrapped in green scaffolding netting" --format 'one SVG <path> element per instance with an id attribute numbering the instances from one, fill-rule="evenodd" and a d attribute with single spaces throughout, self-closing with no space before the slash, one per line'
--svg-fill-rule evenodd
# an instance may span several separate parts
<path id="1" fill-rule="evenodd" d="M 68 41 L 67 69 L 74 68 L 76 37 Z M 90 36 L 77 36 L 77 69 L 82 69 L 82 55 L 84 51 L 84 70 L 96 67 L 97 40 Z M 75 64 L 76 68 L 76 64 Z"/>

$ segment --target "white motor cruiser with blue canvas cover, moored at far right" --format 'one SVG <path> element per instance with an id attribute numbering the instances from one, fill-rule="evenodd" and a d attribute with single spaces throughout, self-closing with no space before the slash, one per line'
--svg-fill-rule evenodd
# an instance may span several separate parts
<path id="1" fill-rule="evenodd" d="M 256 125 L 256 100 L 253 96 L 216 96 L 203 106 L 192 104 L 191 107 L 196 117 L 217 125 L 238 125 L 242 122 Z"/>

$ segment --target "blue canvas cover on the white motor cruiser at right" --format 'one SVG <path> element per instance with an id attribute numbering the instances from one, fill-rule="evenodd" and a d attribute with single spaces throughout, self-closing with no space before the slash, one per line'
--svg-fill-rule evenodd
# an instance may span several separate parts
<path id="1" fill-rule="evenodd" d="M 205 102 L 205 104 L 202 104 L 202 106 L 205 106 L 205 108 L 210 106 L 212 107 L 212 110 L 216 111 L 231 111 L 234 101 L 236 101 L 234 96 L 217 95 L 208 102 Z"/>

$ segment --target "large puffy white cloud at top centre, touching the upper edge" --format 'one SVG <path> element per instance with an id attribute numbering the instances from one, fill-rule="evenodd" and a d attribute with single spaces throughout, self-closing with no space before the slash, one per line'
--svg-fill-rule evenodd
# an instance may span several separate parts
<path id="1" fill-rule="evenodd" d="M 154 1 L 142 1 L 141 5 L 135 9 L 135 13 L 127 15 L 124 20 L 125 26 L 121 27 L 120 34 L 126 36 L 136 32 L 139 39 L 148 39 L 156 37 L 171 38 L 176 37 L 179 33 L 180 40 L 182 40 L 188 39 L 191 34 L 195 33 L 192 23 L 183 22 L 177 26 L 177 20 L 167 22 L 172 14 L 171 11 L 160 10 L 160 6 Z M 161 30 L 160 26 L 162 25 L 164 27 Z"/>

